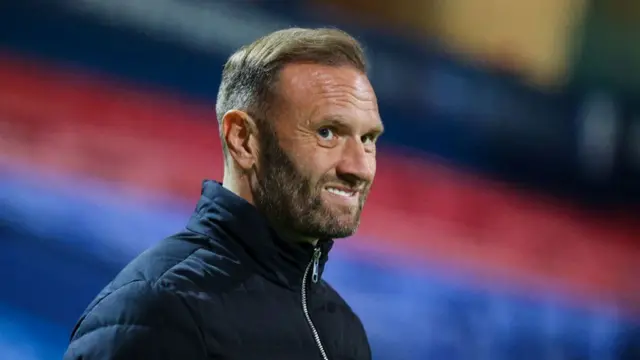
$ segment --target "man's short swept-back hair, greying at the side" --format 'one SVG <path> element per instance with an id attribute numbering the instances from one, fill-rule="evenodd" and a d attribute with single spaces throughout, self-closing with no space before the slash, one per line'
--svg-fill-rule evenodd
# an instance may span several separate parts
<path id="1" fill-rule="evenodd" d="M 256 121 L 266 117 L 280 71 L 291 63 L 352 66 L 363 73 L 367 66 L 362 45 L 342 30 L 289 28 L 272 32 L 240 48 L 224 65 L 216 100 L 219 125 L 234 109 L 257 116 Z M 222 145 L 226 154 L 224 139 Z"/>

